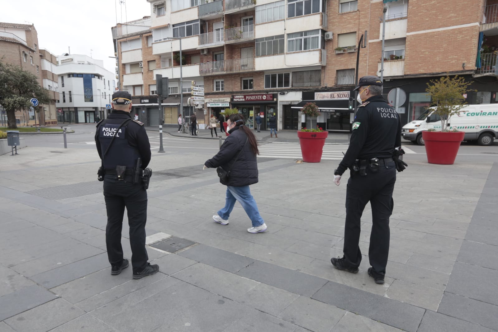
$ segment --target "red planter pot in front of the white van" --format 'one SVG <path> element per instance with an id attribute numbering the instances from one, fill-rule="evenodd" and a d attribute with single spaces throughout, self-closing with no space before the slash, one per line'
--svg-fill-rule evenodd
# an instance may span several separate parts
<path id="1" fill-rule="evenodd" d="M 464 136 L 463 131 L 422 131 L 427 161 L 430 164 L 452 165 Z"/>

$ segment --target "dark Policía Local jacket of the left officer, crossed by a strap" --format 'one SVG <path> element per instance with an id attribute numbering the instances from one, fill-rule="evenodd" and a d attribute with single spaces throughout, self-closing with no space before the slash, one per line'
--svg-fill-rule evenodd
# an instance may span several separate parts
<path id="1" fill-rule="evenodd" d="M 120 130 L 120 124 L 127 121 Z M 97 124 L 95 142 L 97 151 L 102 159 L 104 152 L 111 143 L 116 133 L 113 145 L 104 158 L 104 168 L 114 169 L 116 166 L 126 166 L 132 169 L 136 166 L 137 158 L 141 158 L 142 168 L 146 168 L 150 162 L 150 143 L 143 123 L 132 120 L 129 112 L 113 110 L 107 119 L 102 119 Z"/>

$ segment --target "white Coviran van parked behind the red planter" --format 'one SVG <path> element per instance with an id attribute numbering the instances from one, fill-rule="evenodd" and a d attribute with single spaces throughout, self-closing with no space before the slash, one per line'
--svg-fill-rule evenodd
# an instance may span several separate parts
<path id="1" fill-rule="evenodd" d="M 430 128 L 441 130 L 441 117 L 434 114 L 434 108 L 427 109 L 415 121 L 408 122 L 401 129 L 404 139 L 424 145 L 422 131 Z M 448 129 L 465 131 L 465 141 L 479 145 L 491 145 L 498 138 L 498 104 L 467 105 L 459 114 L 448 121 Z"/>

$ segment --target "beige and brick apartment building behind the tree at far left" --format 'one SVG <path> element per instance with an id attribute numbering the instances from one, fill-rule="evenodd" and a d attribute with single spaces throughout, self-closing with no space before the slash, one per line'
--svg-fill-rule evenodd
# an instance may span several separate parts
<path id="1" fill-rule="evenodd" d="M 40 49 L 38 33 L 33 24 L 0 22 L 0 58 L 36 76 L 38 84 L 48 90 L 51 101 L 34 108 L 15 112 L 17 125 L 57 124 L 55 112 L 57 85 L 53 77 L 53 55 Z"/>

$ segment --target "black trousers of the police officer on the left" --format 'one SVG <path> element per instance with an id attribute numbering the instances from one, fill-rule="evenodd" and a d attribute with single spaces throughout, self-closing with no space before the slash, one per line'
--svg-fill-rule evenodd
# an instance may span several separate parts
<path id="1" fill-rule="evenodd" d="M 123 262 L 121 230 L 126 207 L 131 266 L 133 272 L 141 272 L 147 266 L 148 260 L 145 249 L 147 191 L 143 189 L 141 182 L 133 184 L 131 175 L 126 175 L 124 180 L 118 181 L 116 175 L 107 174 L 104 177 L 104 198 L 107 209 L 106 245 L 109 263 L 121 266 Z"/>

